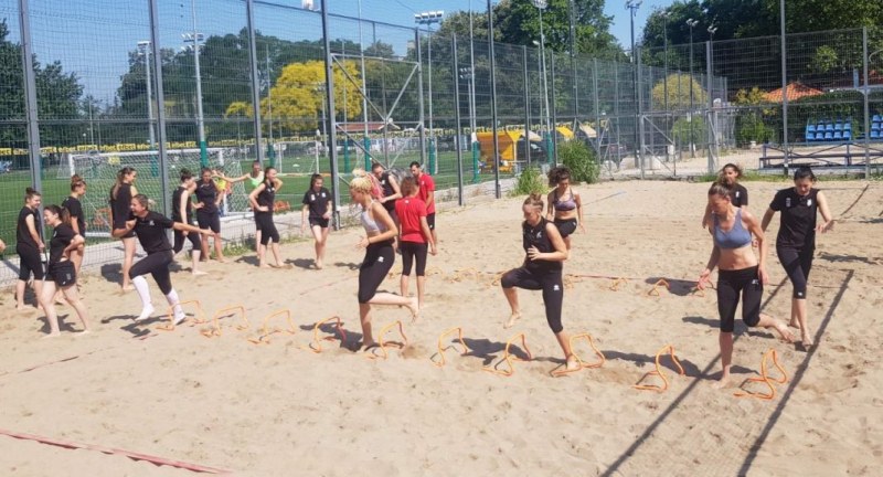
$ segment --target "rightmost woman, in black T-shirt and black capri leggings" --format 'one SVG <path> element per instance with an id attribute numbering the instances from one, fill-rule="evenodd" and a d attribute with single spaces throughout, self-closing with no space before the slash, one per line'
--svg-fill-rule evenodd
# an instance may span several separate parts
<path id="1" fill-rule="evenodd" d="M 804 347 L 813 344 L 807 324 L 807 280 L 816 251 L 816 232 L 825 233 L 834 226 L 828 199 L 812 187 L 815 183 L 816 174 L 812 169 L 798 168 L 794 172 L 794 187 L 776 193 L 760 223 L 760 227 L 766 230 L 773 215 L 781 212 L 781 224 L 776 236 L 776 255 L 794 286 L 789 325 L 800 328 Z M 818 212 L 821 212 L 825 221 L 821 224 L 816 222 Z"/>

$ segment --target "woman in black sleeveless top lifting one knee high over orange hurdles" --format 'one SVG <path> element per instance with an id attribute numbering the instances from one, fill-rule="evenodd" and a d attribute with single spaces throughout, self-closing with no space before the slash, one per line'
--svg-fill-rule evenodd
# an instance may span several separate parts
<path id="1" fill-rule="evenodd" d="M 503 295 L 512 310 L 504 328 L 511 328 L 515 320 L 521 318 L 515 288 L 543 290 L 545 319 L 555 333 L 561 350 L 564 351 L 566 369 L 568 371 L 578 369 L 576 357 L 571 351 L 571 339 L 561 325 L 561 308 L 564 304 L 562 269 L 564 261 L 567 259 L 567 246 L 555 224 L 543 216 L 542 195 L 531 194 L 524 200 L 521 212 L 524 215 L 524 222 L 521 224 L 524 262 L 519 268 L 503 274 L 500 280 Z"/>

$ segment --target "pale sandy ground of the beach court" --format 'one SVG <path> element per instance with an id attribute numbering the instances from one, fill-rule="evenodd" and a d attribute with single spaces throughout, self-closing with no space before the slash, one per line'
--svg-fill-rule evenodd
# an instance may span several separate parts
<path id="1" fill-rule="evenodd" d="M 323 271 L 309 269 L 311 242 L 287 244 L 289 269 L 262 271 L 253 256 L 211 263 L 209 276 L 173 275 L 183 300 L 198 299 L 210 325 L 159 330 L 159 315 L 134 324 L 136 295 L 119 295 L 100 275 L 85 277 L 94 332 L 62 308 L 58 339 L 41 340 L 35 310 L 15 312 L 0 299 L 0 432 L 128 449 L 237 475 L 859 475 L 883 465 L 883 186 L 825 182 L 839 219 L 819 239 L 810 277 L 810 324 L 818 346 L 778 341 L 737 320 L 736 383 L 712 386 L 720 371 L 713 294 L 690 294 L 711 250 L 700 226 L 708 184 L 613 181 L 579 188 L 587 233 L 576 234 L 565 264 L 570 284 L 564 326 L 591 333 L 606 357 L 598 369 L 564 378 L 561 351 L 538 292 L 521 292 L 522 320 L 502 328 L 508 307 L 497 273 L 520 264 L 521 199 L 475 200 L 438 218 L 440 253 L 430 257 L 427 306 L 421 320 L 406 310 L 376 309 L 375 331 L 404 321 L 408 346 L 386 360 L 352 351 L 359 333 L 354 248 L 360 231 L 332 233 Z M 746 183 L 751 210 L 762 213 L 781 184 Z M 778 221 L 770 232 L 775 233 Z M 775 254 L 774 254 L 775 255 Z M 393 268 L 398 271 L 398 263 Z M 787 317 L 790 285 L 775 256 L 765 309 Z M 628 277 L 611 290 L 610 278 Z M 664 278 L 669 290 L 649 296 Z M 155 303 L 161 295 L 151 283 Z M 397 276 L 383 288 L 397 290 Z M 415 287 L 412 284 L 412 293 Z M 160 308 L 160 307 L 158 307 Z M 189 308 L 191 309 L 191 308 Z M 291 311 L 294 335 L 259 335 L 273 311 Z M 308 348 L 313 325 L 340 316 L 348 341 Z M 286 328 L 277 318 L 272 328 Z M 462 327 L 472 352 L 446 352 L 433 365 L 439 333 Z M 323 327 L 320 336 L 332 336 Z M 523 332 L 532 361 L 498 365 L 506 341 Z M 401 341 L 391 330 L 387 340 Z M 450 338 L 445 340 L 450 344 Z M 668 360 L 666 392 L 632 389 L 672 344 L 685 369 Z M 577 341 L 586 360 L 594 353 Z M 776 396 L 740 399 L 740 383 L 760 372 L 775 349 L 789 378 Z M 518 342 L 513 348 L 523 357 Z M 770 372 L 774 377 L 776 372 Z M 648 383 L 659 383 L 649 378 Z M 746 384 L 765 391 L 762 384 Z M 874 469 L 877 470 L 874 470 Z M 0 473 L 21 476 L 188 475 L 189 470 L 132 460 L 121 454 L 71 449 L 0 435 Z"/>

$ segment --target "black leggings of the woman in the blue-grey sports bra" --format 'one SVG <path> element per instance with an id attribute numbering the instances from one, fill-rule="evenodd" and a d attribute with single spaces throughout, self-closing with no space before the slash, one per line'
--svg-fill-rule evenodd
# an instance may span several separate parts
<path id="1" fill-rule="evenodd" d="M 742 294 L 742 321 L 756 327 L 760 321 L 760 298 L 764 284 L 757 276 L 757 267 L 717 273 L 717 312 L 721 315 L 721 331 L 733 332 L 736 306 Z"/>

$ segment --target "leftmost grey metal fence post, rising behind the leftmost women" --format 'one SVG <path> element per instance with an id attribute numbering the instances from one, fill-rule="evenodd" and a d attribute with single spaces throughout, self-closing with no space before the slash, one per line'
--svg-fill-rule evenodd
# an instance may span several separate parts
<path id="1" fill-rule="evenodd" d="M 34 189 L 43 188 L 43 158 L 40 156 L 40 125 L 38 123 L 36 78 L 34 76 L 34 52 L 31 41 L 31 18 L 28 0 L 19 0 L 19 25 L 21 28 L 21 55 L 24 62 L 24 110 L 28 120 L 28 155 L 31 160 L 31 182 Z M 43 214 L 38 214 L 42 234 Z"/>

